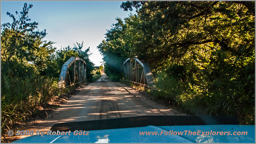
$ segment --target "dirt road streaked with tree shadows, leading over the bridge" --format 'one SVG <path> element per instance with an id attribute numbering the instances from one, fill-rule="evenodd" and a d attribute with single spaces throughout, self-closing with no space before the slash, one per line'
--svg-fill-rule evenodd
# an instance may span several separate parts
<path id="1" fill-rule="evenodd" d="M 135 89 L 108 79 L 100 79 L 81 89 L 66 103 L 55 109 L 35 130 L 48 131 L 55 123 L 142 115 L 184 115 L 151 101 Z"/>

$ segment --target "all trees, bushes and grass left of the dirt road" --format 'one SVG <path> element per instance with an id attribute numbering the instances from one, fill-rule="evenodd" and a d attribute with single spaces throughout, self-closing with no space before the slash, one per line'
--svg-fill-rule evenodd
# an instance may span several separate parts
<path id="1" fill-rule="evenodd" d="M 87 79 L 93 79 L 89 48 L 82 51 L 83 43 L 76 43 L 57 50 L 54 42 L 44 41 L 46 30 L 36 31 L 38 23 L 28 18 L 31 8 L 25 3 L 17 17 L 7 12 L 13 23 L 1 25 L 1 135 L 38 114 L 54 96 L 75 88 L 57 86 L 61 67 L 70 57 L 83 58 Z"/>

